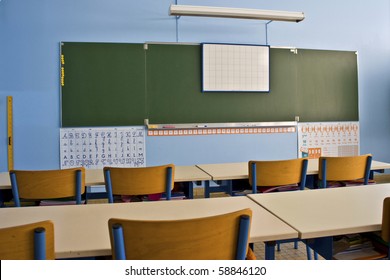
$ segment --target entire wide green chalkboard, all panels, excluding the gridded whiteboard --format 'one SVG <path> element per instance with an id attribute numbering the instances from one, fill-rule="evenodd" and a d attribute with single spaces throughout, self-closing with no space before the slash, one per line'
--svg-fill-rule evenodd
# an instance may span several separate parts
<path id="1" fill-rule="evenodd" d="M 357 56 L 271 48 L 270 92 L 202 92 L 201 47 L 63 43 L 62 125 L 357 121 Z"/>

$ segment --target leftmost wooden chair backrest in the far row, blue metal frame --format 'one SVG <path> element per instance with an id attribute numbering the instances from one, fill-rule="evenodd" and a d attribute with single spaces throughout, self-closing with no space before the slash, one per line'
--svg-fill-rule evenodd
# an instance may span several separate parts
<path id="1" fill-rule="evenodd" d="M 15 205 L 20 199 L 42 200 L 75 197 L 81 203 L 85 192 L 85 168 L 59 170 L 11 170 L 12 193 Z"/>

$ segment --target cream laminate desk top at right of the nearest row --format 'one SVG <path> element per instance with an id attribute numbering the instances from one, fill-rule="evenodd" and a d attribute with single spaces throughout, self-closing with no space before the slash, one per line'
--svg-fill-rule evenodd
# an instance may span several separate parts
<path id="1" fill-rule="evenodd" d="M 378 231 L 389 196 L 390 184 L 248 195 L 301 239 Z"/>

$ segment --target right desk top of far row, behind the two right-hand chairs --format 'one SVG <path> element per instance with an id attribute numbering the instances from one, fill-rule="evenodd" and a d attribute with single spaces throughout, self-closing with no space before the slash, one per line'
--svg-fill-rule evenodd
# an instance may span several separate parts
<path id="1" fill-rule="evenodd" d="M 248 179 L 248 162 L 198 164 L 213 180 Z M 390 169 L 390 163 L 373 160 L 371 170 Z M 307 175 L 318 174 L 318 159 L 309 159 Z"/>

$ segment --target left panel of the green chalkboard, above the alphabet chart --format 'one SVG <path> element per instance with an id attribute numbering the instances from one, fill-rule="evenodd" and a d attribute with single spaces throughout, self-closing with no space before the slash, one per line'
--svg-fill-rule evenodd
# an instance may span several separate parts
<path id="1" fill-rule="evenodd" d="M 61 54 L 63 127 L 143 123 L 143 45 L 62 43 Z"/>

